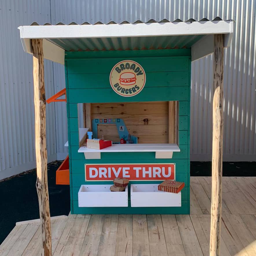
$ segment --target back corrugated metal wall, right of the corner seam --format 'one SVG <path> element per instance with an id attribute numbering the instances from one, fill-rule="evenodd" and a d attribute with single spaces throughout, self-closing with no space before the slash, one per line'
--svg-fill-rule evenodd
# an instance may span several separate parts
<path id="1" fill-rule="evenodd" d="M 51 0 L 52 24 L 234 19 L 232 45 L 224 55 L 224 161 L 256 160 L 255 14 L 256 1 L 249 0 Z M 190 152 L 194 161 L 211 161 L 212 57 L 193 62 L 191 67 Z M 57 136 L 58 149 L 63 143 Z"/>

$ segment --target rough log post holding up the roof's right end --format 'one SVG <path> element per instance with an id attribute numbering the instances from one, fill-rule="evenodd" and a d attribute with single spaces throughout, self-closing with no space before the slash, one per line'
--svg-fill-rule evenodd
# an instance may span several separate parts
<path id="1" fill-rule="evenodd" d="M 223 153 L 223 46 L 224 36 L 214 35 L 213 52 L 213 138 L 210 255 L 220 255 Z"/>

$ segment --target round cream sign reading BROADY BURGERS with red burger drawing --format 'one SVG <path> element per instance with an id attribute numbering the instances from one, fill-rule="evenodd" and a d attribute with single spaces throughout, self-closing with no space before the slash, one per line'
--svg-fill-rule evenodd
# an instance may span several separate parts
<path id="1" fill-rule="evenodd" d="M 141 92 L 146 82 L 146 74 L 139 63 L 133 60 L 118 62 L 110 72 L 112 89 L 119 95 L 131 97 Z"/>

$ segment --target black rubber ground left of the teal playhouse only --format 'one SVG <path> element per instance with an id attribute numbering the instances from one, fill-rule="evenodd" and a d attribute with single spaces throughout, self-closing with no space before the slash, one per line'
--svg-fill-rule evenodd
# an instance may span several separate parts
<path id="1" fill-rule="evenodd" d="M 56 185 L 56 170 L 60 163 L 56 161 L 48 165 L 51 216 L 68 215 L 70 211 L 69 185 Z M 16 222 L 39 218 L 35 184 L 35 169 L 0 181 L 0 244 Z"/>

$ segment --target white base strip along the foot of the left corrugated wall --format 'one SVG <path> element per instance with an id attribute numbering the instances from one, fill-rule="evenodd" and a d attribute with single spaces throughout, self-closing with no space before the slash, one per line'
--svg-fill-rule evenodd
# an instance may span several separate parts
<path id="1" fill-rule="evenodd" d="M 52 161 L 56 161 L 56 156 L 57 156 L 56 154 L 47 156 L 48 163 L 50 163 Z M 22 165 L 14 166 L 12 168 L 8 168 L 5 170 L 1 170 L 0 171 L 0 180 L 17 175 L 22 172 L 26 172 L 28 170 L 32 170 L 34 168 L 36 168 L 36 161 L 32 161 L 32 162 L 25 163 Z"/>

